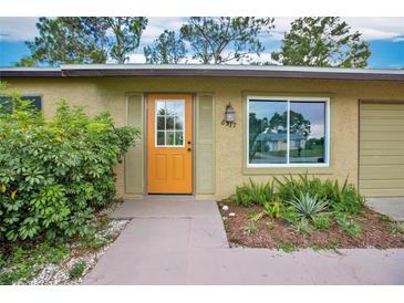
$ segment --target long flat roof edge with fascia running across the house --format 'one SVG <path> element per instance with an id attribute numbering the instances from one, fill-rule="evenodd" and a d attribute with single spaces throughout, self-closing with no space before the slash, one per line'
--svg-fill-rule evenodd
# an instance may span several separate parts
<path id="1" fill-rule="evenodd" d="M 61 67 L 0 67 L 0 77 L 31 76 L 205 76 L 404 81 L 404 70 L 241 64 L 65 64 Z"/>

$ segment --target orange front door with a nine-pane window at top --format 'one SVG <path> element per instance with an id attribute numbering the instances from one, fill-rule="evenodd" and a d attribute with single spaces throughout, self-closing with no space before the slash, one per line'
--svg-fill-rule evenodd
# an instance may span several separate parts
<path id="1" fill-rule="evenodd" d="M 186 94 L 147 97 L 149 194 L 193 192 L 191 100 Z"/>

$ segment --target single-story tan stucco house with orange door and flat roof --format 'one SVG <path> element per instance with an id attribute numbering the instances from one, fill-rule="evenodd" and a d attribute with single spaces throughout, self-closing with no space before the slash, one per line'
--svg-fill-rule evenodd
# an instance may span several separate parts
<path id="1" fill-rule="evenodd" d="M 305 171 L 404 196 L 404 71 L 106 64 L 1 67 L 0 77 L 45 116 L 65 98 L 139 127 L 116 167 L 124 198 L 220 199 L 248 178 Z"/>

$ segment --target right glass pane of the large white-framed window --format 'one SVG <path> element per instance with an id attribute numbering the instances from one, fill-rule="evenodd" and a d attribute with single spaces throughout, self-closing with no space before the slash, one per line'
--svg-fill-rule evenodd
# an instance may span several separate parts
<path id="1" fill-rule="evenodd" d="M 325 163 L 325 103 L 290 102 L 289 163 Z"/>

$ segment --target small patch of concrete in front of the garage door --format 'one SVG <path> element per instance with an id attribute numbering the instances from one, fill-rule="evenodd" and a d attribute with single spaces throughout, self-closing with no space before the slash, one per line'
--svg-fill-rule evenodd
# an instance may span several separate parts
<path id="1" fill-rule="evenodd" d="M 404 197 L 367 198 L 366 205 L 394 220 L 404 221 Z"/>

